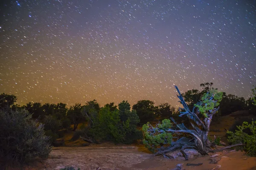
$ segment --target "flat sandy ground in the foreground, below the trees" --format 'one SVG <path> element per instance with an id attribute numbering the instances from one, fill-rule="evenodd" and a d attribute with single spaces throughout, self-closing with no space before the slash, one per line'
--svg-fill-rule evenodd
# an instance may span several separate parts
<path id="1" fill-rule="evenodd" d="M 221 170 L 256 170 L 256 158 L 242 152 L 223 151 L 227 156 L 218 161 Z M 220 157 L 221 157 L 220 156 Z M 60 170 L 65 166 L 80 167 L 81 170 L 170 170 L 183 163 L 186 170 L 211 170 L 217 164 L 209 163 L 209 156 L 189 161 L 176 161 L 140 152 L 138 147 L 58 147 L 53 148 L 49 159 L 43 161 L 38 170 Z M 203 165 L 186 166 L 187 163 Z"/>

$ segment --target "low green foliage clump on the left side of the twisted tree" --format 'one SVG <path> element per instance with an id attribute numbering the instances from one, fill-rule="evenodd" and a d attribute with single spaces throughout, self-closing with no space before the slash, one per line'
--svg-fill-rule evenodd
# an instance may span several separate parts
<path id="1" fill-rule="evenodd" d="M 172 127 L 171 121 L 169 119 L 164 119 L 162 123 L 156 125 L 156 127 L 152 127 L 150 123 L 143 125 L 143 144 L 148 148 L 151 152 L 155 152 L 157 147 L 163 146 L 164 144 L 172 143 L 172 133 L 166 132 L 167 129 Z M 149 130 L 153 130 L 151 133 Z"/>

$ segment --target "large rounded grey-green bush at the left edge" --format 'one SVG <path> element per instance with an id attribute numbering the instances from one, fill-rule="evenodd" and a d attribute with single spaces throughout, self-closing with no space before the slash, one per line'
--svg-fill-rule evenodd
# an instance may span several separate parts
<path id="1" fill-rule="evenodd" d="M 3 164 L 47 158 L 50 152 L 44 125 L 34 121 L 32 114 L 26 110 L 0 111 L 0 160 Z"/>

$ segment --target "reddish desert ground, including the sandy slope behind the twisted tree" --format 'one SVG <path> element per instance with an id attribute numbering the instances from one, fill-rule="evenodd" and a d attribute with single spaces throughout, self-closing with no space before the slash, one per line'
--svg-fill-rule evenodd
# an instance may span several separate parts
<path id="1" fill-rule="evenodd" d="M 241 116 L 241 115 L 240 115 Z M 226 131 L 239 119 L 239 115 L 222 116 L 212 122 L 210 136 L 220 136 L 221 141 L 227 142 Z M 66 136 L 65 140 L 72 136 Z M 218 152 L 220 161 L 210 164 L 210 153 L 190 159 L 189 161 L 166 159 L 149 153 L 143 144 L 115 145 L 110 142 L 90 144 L 77 141 L 65 142 L 63 147 L 53 147 L 49 158 L 26 167 L 26 170 L 60 170 L 65 166 L 80 167 L 81 170 L 171 170 L 177 164 L 183 163 L 185 170 L 212 170 L 218 164 L 220 170 L 256 170 L 256 157 L 246 156 L 244 152 L 233 149 Z M 200 166 L 186 166 L 187 163 L 203 163 Z"/>

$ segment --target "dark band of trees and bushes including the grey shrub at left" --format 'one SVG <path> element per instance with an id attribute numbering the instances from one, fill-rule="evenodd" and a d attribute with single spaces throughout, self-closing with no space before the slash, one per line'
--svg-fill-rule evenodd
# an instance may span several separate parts
<path id="1" fill-rule="evenodd" d="M 200 86 L 201 91 L 192 89 L 181 94 L 190 110 L 203 100 L 204 94 L 215 89 L 213 83 L 207 82 Z M 253 98 L 245 100 L 224 93 L 218 116 L 241 110 L 255 114 L 256 88 L 253 89 L 253 95 Z M 0 94 L 0 167 L 8 161 L 24 162 L 36 157 L 47 157 L 51 144 L 64 137 L 68 130 L 74 131 L 70 139 L 73 141 L 79 138 L 91 143 L 113 141 L 131 144 L 142 141 L 143 132 L 138 129 L 143 124 L 161 120 L 166 122 L 166 119 L 175 117 L 180 111 L 169 103 L 155 105 L 150 100 L 140 100 L 132 107 L 125 100 L 118 105 L 111 102 L 104 106 L 92 100 L 85 105 L 76 103 L 70 107 L 64 103 L 39 102 L 20 106 L 15 104 L 16 101 L 15 95 Z M 180 117 L 179 121 L 185 124 L 186 118 Z M 152 137 L 152 140 L 156 139 Z"/>

